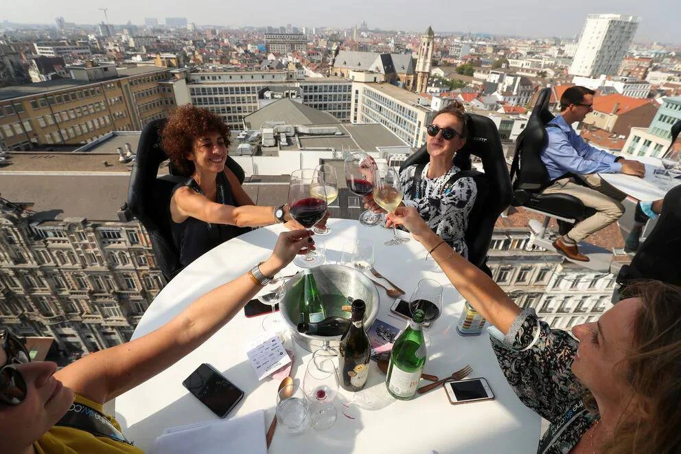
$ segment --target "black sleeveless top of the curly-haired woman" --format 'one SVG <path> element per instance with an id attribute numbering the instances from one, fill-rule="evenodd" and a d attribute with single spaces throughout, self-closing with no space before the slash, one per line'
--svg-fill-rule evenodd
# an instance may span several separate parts
<path id="1" fill-rule="evenodd" d="M 227 180 L 227 175 L 224 172 L 218 173 L 216 177 L 217 185 L 217 202 L 223 205 L 232 205 L 233 207 L 238 207 L 234 194 L 232 194 L 231 186 Z M 183 186 L 189 186 L 194 191 L 199 194 L 203 194 L 200 186 L 194 179 L 187 179 L 184 183 L 179 183 L 172 189 L 172 194 L 175 193 L 178 188 Z M 169 216 L 170 211 L 169 211 Z M 170 231 L 172 233 L 172 240 L 180 253 L 180 263 L 182 266 L 187 266 L 188 264 L 194 262 L 204 253 L 213 249 L 218 245 L 221 245 L 227 240 L 245 234 L 247 231 L 251 231 L 251 227 L 237 227 L 235 225 L 227 224 L 214 224 L 206 223 L 203 220 L 198 220 L 189 216 L 182 223 L 176 223 L 170 218 Z"/>

